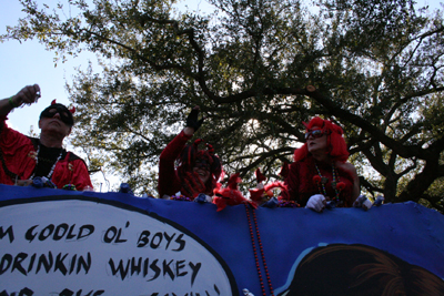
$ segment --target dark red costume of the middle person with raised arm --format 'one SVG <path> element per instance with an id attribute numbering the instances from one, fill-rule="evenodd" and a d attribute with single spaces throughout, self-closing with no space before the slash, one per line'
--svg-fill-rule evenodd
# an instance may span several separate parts
<path id="1" fill-rule="evenodd" d="M 159 196 L 172 196 L 178 192 L 194 200 L 199 193 L 212 196 L 216 187 L 222 166 L 219 157 L 212 154 L 212 150 L 198 151 L 196 144 L 186 145 L 191 139 L 183 131 L 178 134 L 162 151 L 159 160 Z M 200 181 L 199 175 L 192 172 L 195 159 L 205 159 L 210 163 L 210 178 L 206 184 Z M 175 161 L 179 167 L 175 167 Z"/>

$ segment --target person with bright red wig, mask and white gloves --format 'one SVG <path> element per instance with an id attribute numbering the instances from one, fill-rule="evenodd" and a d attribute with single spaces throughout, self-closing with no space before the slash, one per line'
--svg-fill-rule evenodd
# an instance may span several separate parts
<path id="1" fill-rule="evenodd" d="M 306 142 L 294 151 L 281 200 L 294 201 L 316 212 L 322 212 L 327 202 L 334 206 L 353 206 L 360 195 L 360 182 L 356 169 L 347 162 L 341 126 L 321 118 L 304 125 Z"/>

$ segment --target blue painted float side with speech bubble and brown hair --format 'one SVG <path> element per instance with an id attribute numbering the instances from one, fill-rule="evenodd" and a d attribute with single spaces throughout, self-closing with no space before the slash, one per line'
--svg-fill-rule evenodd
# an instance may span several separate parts
<path id="1" fill-rule="evenodd" d="M 0 295 L 444 295 L 443 278 L 444 215 L 413 202 L 216 212 L 0 185 Z"/>

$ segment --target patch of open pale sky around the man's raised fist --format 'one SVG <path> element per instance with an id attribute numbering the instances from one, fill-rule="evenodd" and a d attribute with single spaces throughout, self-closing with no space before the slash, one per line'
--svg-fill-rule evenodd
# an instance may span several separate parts
<path id="1" fill-rule="evenodd" d="M 0 33 L 6 33 L 6 27 L 16 25 L 24 13 L 18 0 L 0 2 Z M 51 2 L 56 1 L 48 1 Z M 53 99 L 58 99 L 59 103 L 69 103 L 64 91 L 65 78 L 72 81 L 73 68 L 85 64 L 80 59 L 71 59 L 64 64 L 59 62 L 56 68 L 53 58 L 54 53 L 46 51 L 37 41 L 0 43 L 0 98 L 11 96 L 29 84 L 39 83 L 41 88 L 42 98 L 38 104 L 16 110 L 9 115 L 10 124 L 22 133 L 28 134 L 30 125 L 38 130 L 39 114 Z"/>

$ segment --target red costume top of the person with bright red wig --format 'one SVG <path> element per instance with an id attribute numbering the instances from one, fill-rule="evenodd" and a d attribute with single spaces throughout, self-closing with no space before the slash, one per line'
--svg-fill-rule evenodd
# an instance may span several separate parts
<path id="1" fill-rule="evenodd" d="M 335 197 L 336 192 L 332 187 L 333 181 L 333 171 L 331 164 L 320 164 L 317 163 L 317 167 L 321 172 L 322 176 L 329 178 L 329 182 L 324 184 L 326 195 L 329 197 Z M 353 195 L 353 177 L 352 174 L 347 171 L 336 167 L 336 172 L 339 177 L 336 176 L 336 182 L 343 182 L 345 184 L 344 190 L 340 192 L 339 198 L 343 201 L 343 205 L 345 207 L 352 206 L 352 195 Z M 286 201 L 295 201 L 301 206 L 305 206 L 309 198 L 314 194 L 323 194 L 324 192 L 317 186 L 316 182 L 313 181 L 313 177 L 317 174 L 314 159 L 309 156 L 302 161 L 294 162 L 290 165 L 289 175 L 285 178 L 285 185 L 287 186 L 287 191 L 282 193 L 282 200 Z"/>

